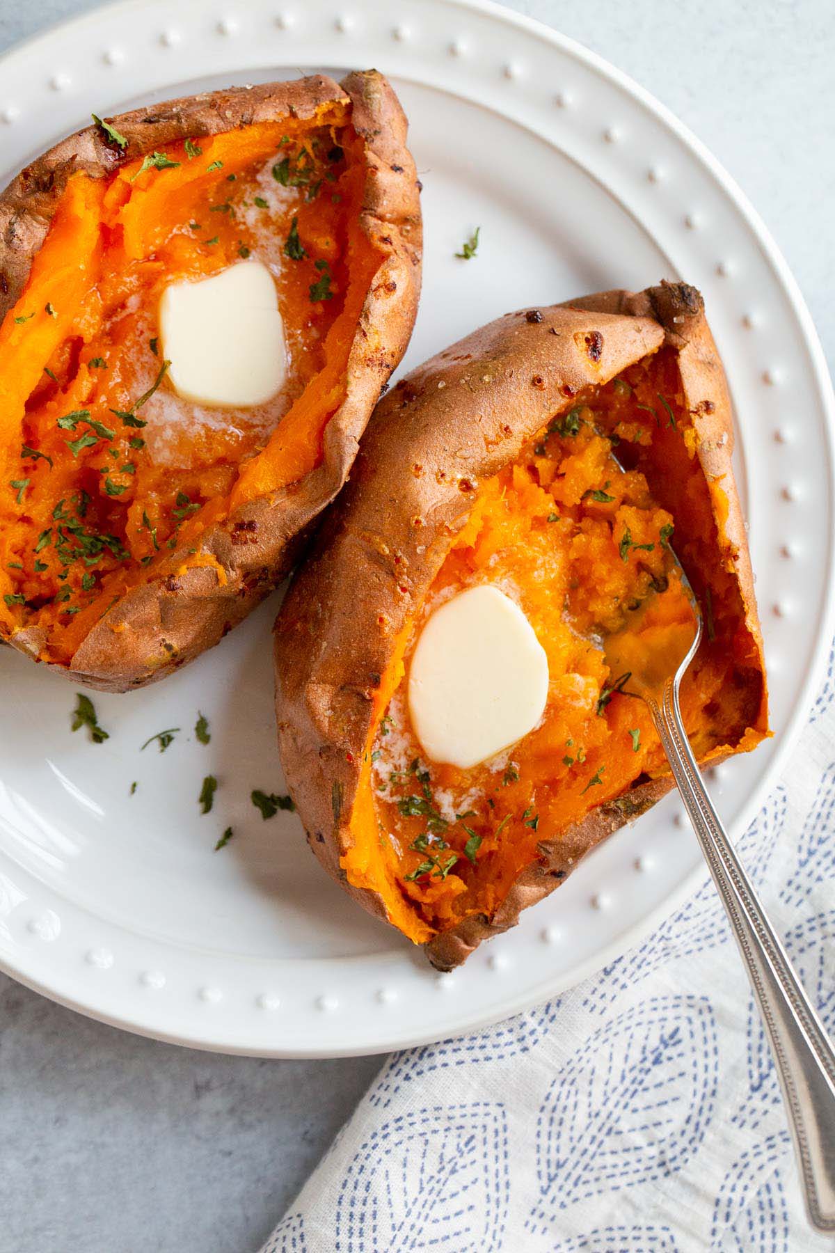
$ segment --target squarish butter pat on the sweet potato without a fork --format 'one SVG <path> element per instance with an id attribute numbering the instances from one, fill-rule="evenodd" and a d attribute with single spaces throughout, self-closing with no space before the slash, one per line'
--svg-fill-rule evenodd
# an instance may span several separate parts
<path id="1" fill-rule="evenodd" d="M 245 408 L 272 400 L 287 380 L 275 282 L 259 261 L 170 283 L 159 302 L 159 336 L 184 400 Z"/>

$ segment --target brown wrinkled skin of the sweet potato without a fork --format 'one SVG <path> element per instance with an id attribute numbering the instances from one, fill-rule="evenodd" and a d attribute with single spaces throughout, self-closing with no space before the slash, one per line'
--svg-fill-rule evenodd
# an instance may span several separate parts
<path id="1" fill-rule="evenodd" d="M 23 292 L 66 180 L 84 169 L 94 178 L 166 143 L 214 135 L 258 122 L 315 117 L 320 105 L 351 101 L 352 124 L 366 143 L 367 177 L 361 224 L 381 253 L 349 351 L 346 398 L 330 417 L 320 464 L 299 482 L 237 509 L 202 539 L 212 568 L 180 573 L 175 550 L 154 580 L 129 590 L 90 630 L 69 668 L 50 667 L 103 692 L 144 687 L 193 660 L 242 621 L 290 570 L 317 515 L 337 496 L 357 455 L 359 436 L 408 345 L 421 289 L 422 224 L 407 120 L 394 91 L 376 70 L 342 84 L 324 75 L 253 88 L 230 88 L 109 118 L 128 139 L 120 152 L 98 127 L 64 139 L 0 194 L 0 320 Z M 9 642 L 33 658 L 38 626 Z"/>

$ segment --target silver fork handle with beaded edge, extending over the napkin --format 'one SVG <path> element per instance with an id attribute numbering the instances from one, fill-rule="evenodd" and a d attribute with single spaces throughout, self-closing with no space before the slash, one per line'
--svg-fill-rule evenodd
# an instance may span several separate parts
<path id="1" fill-rule="evenodd" d="M 675 679 L 645 695 L 674 778 L 731 921 L 767 1031 L 800 1167 L 806 1210 L 835 1232 L 835 1054 L 705 791 Z"/>

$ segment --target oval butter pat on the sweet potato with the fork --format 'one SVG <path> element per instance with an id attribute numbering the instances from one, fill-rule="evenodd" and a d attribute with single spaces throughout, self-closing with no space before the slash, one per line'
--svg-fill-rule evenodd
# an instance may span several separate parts
<path id="1" fill-rule="evenodd" d="M 427 757 L 462 769 L 533 730 L 548 698 L 548 659 L 498 588 L 459 591 L 432 614 L 409 670 L 412 727 Z"/>

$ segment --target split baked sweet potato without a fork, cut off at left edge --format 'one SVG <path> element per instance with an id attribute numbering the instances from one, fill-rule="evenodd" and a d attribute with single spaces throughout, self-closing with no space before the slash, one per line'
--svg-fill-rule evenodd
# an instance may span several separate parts
<path id="1" fill-rule="evenodd" d="M 65 139 L 0 195 L 0 635 L 75 683 L 163 678 L 287 574 L 408 343 L 421 213 L 386 79 L 173 100 Z M 173 282 L 259 259 L 285 385 L 184 400 Z"/>

